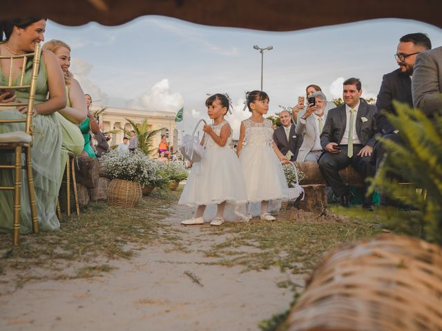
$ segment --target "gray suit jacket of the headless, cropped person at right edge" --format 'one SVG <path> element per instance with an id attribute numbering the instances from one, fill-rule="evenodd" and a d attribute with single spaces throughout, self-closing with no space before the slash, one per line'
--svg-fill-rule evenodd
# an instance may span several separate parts
<path id="1" fill-rule="evenodd" d="M 417 55 L 412 93 L 414 107 L 422 110 L 427 116 L 442 110 L 442 47 Z"/>

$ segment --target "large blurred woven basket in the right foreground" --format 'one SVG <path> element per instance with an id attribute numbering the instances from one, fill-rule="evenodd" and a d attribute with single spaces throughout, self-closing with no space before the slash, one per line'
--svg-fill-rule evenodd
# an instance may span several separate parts
<path id="1" fill-rule="evenodd" d="M 442 330 L 442 249 L 381 235 L 327 254 L 287 318 L 290 331 Z"/>

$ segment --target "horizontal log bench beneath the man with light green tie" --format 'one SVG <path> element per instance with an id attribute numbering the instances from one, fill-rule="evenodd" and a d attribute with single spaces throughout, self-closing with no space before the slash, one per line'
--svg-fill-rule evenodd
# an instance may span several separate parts
<path id="1" fill-rule="evenodd" d="M 326 185 L 327 182 L 320 173 L 319 164 L 316 162 L 295 162 L 296 168 L 304 172 L 307 179 L 300 182 L 301 185 Z M 356 172 L 352 165 L 339 171 L 340 177 L 343 179 L 343 183 L 352 186 L 354 188 L 361 188 L 363 186 L 363 180 L 361 174 Z M 307 194 L 306 194 L 307 197 Z"/>

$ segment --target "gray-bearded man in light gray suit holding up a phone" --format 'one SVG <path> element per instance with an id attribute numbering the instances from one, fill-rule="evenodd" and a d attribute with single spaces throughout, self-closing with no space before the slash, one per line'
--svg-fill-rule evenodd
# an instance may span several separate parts
<path id="1" fill-rule="evenodd" d="M 323 147 L 320 146 L 320 134 L 323 132 L 327 119 L 327 98 L 323 92 L 314 92 L 310 97 L 315 98 L 315 105 L 309 104 L 305 113 L 296 124 L 296 134 L 304 134 L 302 145 L 296 161 L 318 162 Z"/>

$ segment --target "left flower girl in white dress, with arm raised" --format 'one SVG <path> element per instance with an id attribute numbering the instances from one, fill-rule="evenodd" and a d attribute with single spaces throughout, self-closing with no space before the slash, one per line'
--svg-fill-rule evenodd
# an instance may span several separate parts
<path id="1" fill-rule="evenodd" d="M 240 161 L 229 147 L 232 130 L 224 120 L 229 99 L 224 94 L 214 94 L 206 100 L 206 107 L 213 124 L 203 128 L 204 157 L 198 170 L 192 168 L 178 201 L 198 208 L 194 217 L 181 222 L 183 225 L 203 224 L 207 205 L 218 205 L 216 217 L 210 224 L 221 225 L 227 203 L 235 206 L 247 202 Z"/>

